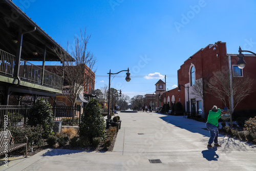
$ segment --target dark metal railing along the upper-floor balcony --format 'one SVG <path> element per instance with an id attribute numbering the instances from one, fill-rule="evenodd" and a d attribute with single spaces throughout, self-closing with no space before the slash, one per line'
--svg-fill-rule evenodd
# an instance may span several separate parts
<path id="1" fill-rule="evenodd" d="M 0 74 L 13 77 L 15 56 L 0 49 Z M 43 69 L 32 63 L 20 59 L 19 77 L 24 81 L 45 85 L 52 88 L 62 88 L 62 77 Z"/>

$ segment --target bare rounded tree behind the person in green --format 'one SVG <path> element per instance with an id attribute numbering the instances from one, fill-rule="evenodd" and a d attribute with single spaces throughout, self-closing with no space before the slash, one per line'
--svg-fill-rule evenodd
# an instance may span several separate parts
<path id="1" fill-rule="evenodd" d="M 220 99 L 230 109 L 230 126 L 232 128 L 232 112 L 237 105 L 252 92 L 252 79 L 248 76 L 238 77 L 232 71 L 223 70 L 213 73 L 208 83 L 208 93 Z M 233 102 L 232 102 L 233 101 Z"/>

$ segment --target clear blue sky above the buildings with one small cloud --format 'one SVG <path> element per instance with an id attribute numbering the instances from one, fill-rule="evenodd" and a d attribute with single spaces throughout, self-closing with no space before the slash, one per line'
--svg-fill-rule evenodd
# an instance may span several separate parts
<path id="1" fill-rule="evenodd" d="M 144 78 L 153 73 L 166 75 L 167 89 L 173 89 L 183 62 L 208 44 L 224 41 L 227 53 L 238 53 L 239 46 L 256 51 L 253 0 L 13 2 L 65 49 L 86 27 L 88 50 L 97 57 L 95 89 L 108 84 L 110 69 L 129 67 L 132 80 L 127 83 L 122 72 L 111 87 L 130 97 L 155 92 L 160 78 Z"/>

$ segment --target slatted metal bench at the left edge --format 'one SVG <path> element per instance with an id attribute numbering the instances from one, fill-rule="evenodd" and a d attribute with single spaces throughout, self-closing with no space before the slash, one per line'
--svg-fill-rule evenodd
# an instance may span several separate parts
<path id="1" fill-rule="evenodd" d="M 0 155 L 7 154 L 15 149 L 26 146 L 26 157 L 28 157 L 28 137 L 24 137 L 27 140 L 26 143 L 14 143 L 15 138 L 20 137 L 12 137 L 9 130 L 0 132 Z"/>

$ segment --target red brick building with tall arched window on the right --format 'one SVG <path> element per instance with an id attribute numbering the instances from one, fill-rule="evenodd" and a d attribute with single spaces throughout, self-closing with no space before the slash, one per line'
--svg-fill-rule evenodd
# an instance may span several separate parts
<path id="1" fill-rule="evenodd" d="M 223 71 L 224 69 L 231 69 L 232 73 L 239 71 L 240 76 L 249 76 L 251 79 L 256 79 L 256 70 L 254 55 L 245 54 L 245 61 L 247 65 L 244 69 L 239 69 L 237 67 L 238 54 L 228 54 L 226 50 L 226 42 L 218 41 L 215 44 L 207 45 L 205 48 L 200 49 L 194 55 L 190 56 L 180 69 L 177 71 L 178 74 L 178 86 L 180 86 L 181 91 L 178 88 L 166 91 L 162 95 L 162 105 L 164 103 L 164 97 L 166 97 L 166 102 L 169 104 L 181 102 L 183 105 L 183 110 L 186 112 L 198 112 L 199 114 L 203 111 L 203 103 L 205 104 L 205 112 L 208 112 L 213 105 L 217 105 L 218 108 L 224 109 L 224 104 L 221 100 L 212 96 L 211 94 L 205 93 L 205 100 L 191 94 L 191 87 L 194 86 L 195 81 L 201 79 L 203 83 L 212 77 L 212 73 L 215 71 Z M 256 87 L 256 82 L 253 82 L 253 88 Z M 186 87 L 186 88 L 184 88 Z M 188 87 L 188 88 L 187 88 Z M 256 92 L 252 92 L 244 100 L 242 100 L 235 110 L 242 109 L 256 109 L 254 102 L 254 97 Z M 228 106 L 229 107 L 229 106 Z M 231 106 L 232 108 L 232 106 Z"/>

